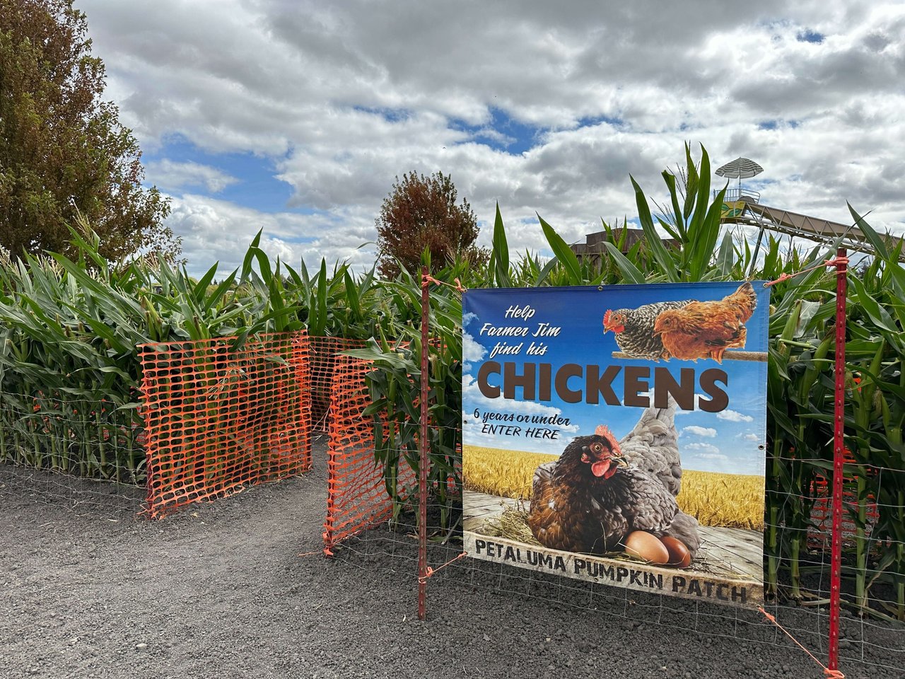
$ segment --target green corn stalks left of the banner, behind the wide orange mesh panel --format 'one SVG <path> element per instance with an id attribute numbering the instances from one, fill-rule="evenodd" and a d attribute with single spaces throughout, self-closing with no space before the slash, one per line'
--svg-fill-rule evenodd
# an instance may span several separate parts
<path id="1" fill-rule="evenodd" d="M 260 234 L 241 276 L 214 285 L 216 266 L 194 281 L 164 259 L 112 262 L 79 225 L 72 259 L 0 250 L 0 462 L 143 483 L 138 345 L 300 328 L 365 339 L 386 316 L 373 272 L 271 267 Z"/>

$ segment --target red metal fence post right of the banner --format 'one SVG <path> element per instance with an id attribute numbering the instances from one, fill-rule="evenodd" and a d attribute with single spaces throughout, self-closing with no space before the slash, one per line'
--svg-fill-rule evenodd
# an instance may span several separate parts
<path id="1" fill-rule="evenodd" d="M 843 462 L 845 445 L 845 249 L 836 252 L 836 366 L 835 415 L 833 430 L 833 542 L 830 557 L 830 657 L 829 669 L 839 669 L 839 604 L 843 548 Z"/>

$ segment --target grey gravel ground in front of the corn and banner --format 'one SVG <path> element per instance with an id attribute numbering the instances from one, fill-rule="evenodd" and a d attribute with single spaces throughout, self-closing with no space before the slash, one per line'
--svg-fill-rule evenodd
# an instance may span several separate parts
<path id="1" fill-rule="evenodd" d="M 428 581 L 419 622 L 413 540 L 381 529 L 319 554 L 322 440 L 315 459 L 163 521 L 135 515 L 138 489 L 0 465 L 0 677 L 823 676 L 756 611 L 472 559 Z M 779 618 L 825 662 L 825 614 Z M 846 616 L 842 654 L 847 677 L 900 678 L 905 627 Z"/>

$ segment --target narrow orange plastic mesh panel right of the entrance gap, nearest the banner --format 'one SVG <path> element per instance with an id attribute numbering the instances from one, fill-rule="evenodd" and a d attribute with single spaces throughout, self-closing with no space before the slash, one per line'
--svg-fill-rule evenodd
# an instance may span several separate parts
<path id="1" fill-rule="evenodd" d="M 392 516 L 383 468 L 374 459 L 373 418 L 365 416 L 370 403 L 365 376 L 371 363 L 338 356 L 330 397 L 327 519 L 324 546 Z M 417 479 L 403 460 L 397 487 L 413 487 Z"/>

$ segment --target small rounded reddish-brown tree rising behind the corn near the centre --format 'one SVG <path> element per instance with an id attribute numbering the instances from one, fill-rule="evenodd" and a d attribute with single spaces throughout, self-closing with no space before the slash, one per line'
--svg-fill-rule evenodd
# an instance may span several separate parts
<path id="1" fill-rule="evenodd" d="M 386 278 L 399 273 L 402 263 L 414 272 L 421 265 L 424 248 L 431 253 L 431 269 L 442 268 L 456 257 L 472 264 L 487 261 L 488 253 L 474 245 L 478 220 L 468 201 L 456 205 L 452 176 L 436 172 L 430 177 L 414 172 L 396 177 L 384 198 L 377 226 L 377 270 Z"/>

